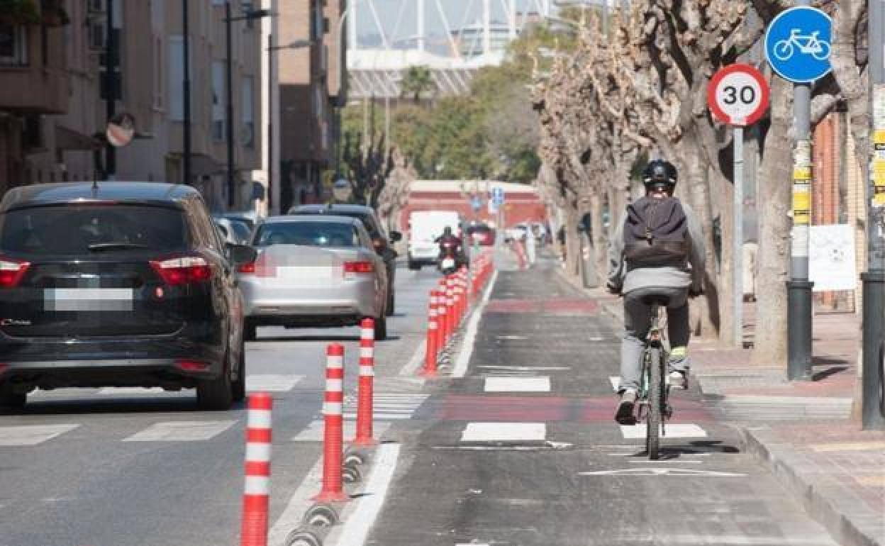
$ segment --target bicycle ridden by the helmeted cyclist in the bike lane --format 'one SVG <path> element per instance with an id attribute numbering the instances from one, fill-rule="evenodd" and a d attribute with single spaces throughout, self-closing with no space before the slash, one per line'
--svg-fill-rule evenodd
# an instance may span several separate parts
<path id="1" fill-rule="evenodd" d="M 648 296 L 645 302 L 651 306 L 651 320 L 643 348 L 642 383 L 636 395 L 637 420 L 643 420 L 644 412 L 645 450 L 651 460 L 657 460 L 660 436 L 666 435 L 666 421 L 673 416 L 673 408 L 668 402 L 670 378 L 666 373 L 665 330 L 660 318 L 661 308 L 666 308 L 670 302 L 666 296 Z"/>

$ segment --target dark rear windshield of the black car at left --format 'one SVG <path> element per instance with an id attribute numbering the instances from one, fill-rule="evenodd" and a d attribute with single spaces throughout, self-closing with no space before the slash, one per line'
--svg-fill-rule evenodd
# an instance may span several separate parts
<path id="1" fill-rule="evenodd" d="M 88 254 L 102 246 L 165 251 L 182 250 L 187 244 L 182 211 L 173 208 L 65 204 L 0 215 L 0 251 Z"/>

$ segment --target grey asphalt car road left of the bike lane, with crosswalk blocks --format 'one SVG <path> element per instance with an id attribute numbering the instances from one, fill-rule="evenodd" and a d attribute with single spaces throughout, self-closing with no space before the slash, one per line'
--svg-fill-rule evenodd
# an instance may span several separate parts
<path id="1" fill-rule="evenodd" d="M 379 430 L 408 418 L 410 404 L 421 400 L 410 394 L 420 383 L 398 373 L 424 340 L 427 291 L 438 274 L 401 269 L 396 279 L 390 339 L 376 347 L 376 405 L 383 407 L 385 396 L 396 404 L 376 423 Z M 345 346 L 345 388 L 352 392 L 358 328 L 266 327 L 247 343 L 250 389 L 271 390 L 274 398 L 272 524 L 319 459 L 328 342 Z M 349 400 L 345 411 L 355 407 Z M 245 417 L 242 405 L 197 411 L 192 390 L 32 394 L 25 411 L 0 416 L 0 545 L 238 544 Z M 319 482 L 304 488 L 319 492 Z"/>

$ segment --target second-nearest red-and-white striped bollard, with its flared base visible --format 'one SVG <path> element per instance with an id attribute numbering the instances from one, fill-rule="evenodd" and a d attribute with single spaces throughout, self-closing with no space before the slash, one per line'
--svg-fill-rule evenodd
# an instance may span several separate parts
<path id="1" fill-rule="evenodd" d="M 332 343 L 326 350 L 326 396 L 323 398 L 323 486 L 313 500 L 342 503 L 348 500 L 342 483 L 344 430 L 344 347 Z"/>

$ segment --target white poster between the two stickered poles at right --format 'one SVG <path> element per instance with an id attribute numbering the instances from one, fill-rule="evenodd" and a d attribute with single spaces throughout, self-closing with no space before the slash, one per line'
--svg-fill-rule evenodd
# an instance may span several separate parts
<path id="1" fill-rule="evenodd" d="M 848 224 L 812 226 L 809 236 L 808 276 L 814 291 L 858 288 L 854 230 Z"/>

